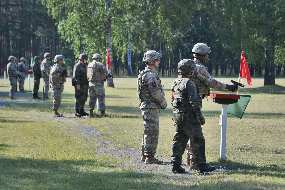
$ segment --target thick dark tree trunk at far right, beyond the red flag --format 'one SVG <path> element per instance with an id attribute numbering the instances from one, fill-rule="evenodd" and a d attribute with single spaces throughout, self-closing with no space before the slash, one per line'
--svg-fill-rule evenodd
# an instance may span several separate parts
<path id="1" fill-rule="evenodd" d="M 264 86 L 275 84 L 274 65 L 275 43 L 273 30 L 266 35 L 266 59 L 264 66 Z"/>

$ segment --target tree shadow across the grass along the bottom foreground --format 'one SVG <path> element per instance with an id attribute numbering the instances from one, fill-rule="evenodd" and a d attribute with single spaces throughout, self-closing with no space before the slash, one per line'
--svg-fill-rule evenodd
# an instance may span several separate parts
<path id="1" fill-rule="evenodd" d="M 219 165 L 220 163 L 216 163 Z M 232 165 L 234 163 L 231 163 Z M 239 167 L 254 170 L 258 176 L 285 177 L 284 169 L 277 167 L 258 169 L 251 165 L 235 163 Z M 86 170 L 82 168 L 87 168 Z M 105 170 L 105 171 L 104 171 Z M 107 171 L 109 170 L 109 171 Z M 112 171 L 111 165 L 94 160 L 38 160 L 38 159 L 0 159 L 1 189 L 263 189 L 257 185 L 247 184 L 243 179 L 227 179 L 224 175 L 216 175 L 214 180 L 201 179 L 195 176 L 185 180 L 186 175 L 173 177 L 138 173 L 134 171 Z M 270 173 L 276 172 L 276 175 Z M 229 170 L 227 174 L 253 174 L 247 170 Z M 202 175 L 213 175 L 205 173 Z M 204 181 L 203 181 L 204 180 Z M 258 180 L 258 179 L 257 179 Z M 174 184 L 174 181 L 176 184 Z M 200 182 L 198 182 L 200 181 Z M 217 183 L 218 182 L 218 183 Z M 198 185 L 199 183 L 199 185 Z M 273 189 L 283 189 L 284 185 L 266 182 Z M 262 184 L 260 184 L 262 186 Z"/>

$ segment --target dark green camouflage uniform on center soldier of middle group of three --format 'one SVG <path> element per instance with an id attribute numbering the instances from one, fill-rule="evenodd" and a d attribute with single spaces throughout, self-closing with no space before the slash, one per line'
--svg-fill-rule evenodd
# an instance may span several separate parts
<path id="1" fill-rule="evenodd" d="M 78 62 L 73 68 L 73 81 L 75 87 L 75 110 L 84 109 L 85 102 L 88 98 L 88 80 L 87 66 Z M 76 85 L 80 84 L 80 90 L 76 89 Z"/>

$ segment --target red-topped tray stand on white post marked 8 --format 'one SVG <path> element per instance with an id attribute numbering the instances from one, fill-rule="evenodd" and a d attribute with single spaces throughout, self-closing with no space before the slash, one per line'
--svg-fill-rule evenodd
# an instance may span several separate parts
<path id="1" fill-rule="evenodd" d="M 210 98 L 213 98 L 217 104 L 222 104 L 222 114 L 220 115 L 221 125 L 221 147 L 220 147 L 220 159 L 226 160 L 226 140 L 227 140 L 227 105 L 237 103 L 241 98 L 239 95 L 233 94 L 211 94 Z"/>

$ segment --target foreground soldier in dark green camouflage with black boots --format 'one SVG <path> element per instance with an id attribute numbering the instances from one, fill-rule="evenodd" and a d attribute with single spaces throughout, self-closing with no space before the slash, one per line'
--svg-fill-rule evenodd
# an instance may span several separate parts
<path id="1" fill-rule="evenodd" d="M 215 167 L 206 164 L 205 139 L 200 123 L 205 121 L 201 112 L 201 99 L 197 87 L 191 78 L 196 65 L 191 59 L 183 59 L 178 63 L 178 78 L 173 82 L 173 121 L 175 135 L 172 144 L 171 165 L 173 173 L 184 173 L 181 167 L 182 155 L 187 142 L 191 139 L 194 155 L 196 156 L 195 169 L 213 171 Z"/>

